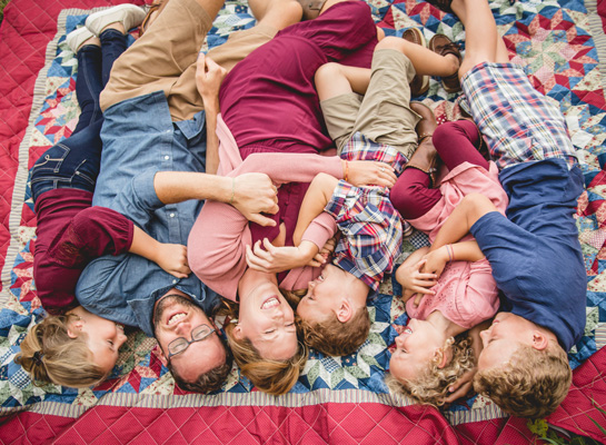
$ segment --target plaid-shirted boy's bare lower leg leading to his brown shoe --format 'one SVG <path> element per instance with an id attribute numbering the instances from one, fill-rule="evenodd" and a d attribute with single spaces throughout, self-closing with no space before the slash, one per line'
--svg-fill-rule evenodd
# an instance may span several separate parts
<path id="1" fill-rule="evenodd" d="M 447 77 L 459 69 L 459 60 L 454 55 L 440 56 L 429 49 L 397 37 L 386 37 L 377 44 L 379 49 L 395 49 L 405 55 L 419 76 Z"/>

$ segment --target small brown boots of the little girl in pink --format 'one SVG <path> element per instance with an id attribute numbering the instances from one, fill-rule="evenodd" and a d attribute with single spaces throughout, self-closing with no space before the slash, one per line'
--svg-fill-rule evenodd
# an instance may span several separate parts
<path id="1" fill-rule="evenodd" d="M 416 168 L 429 175 L 429 187 L 436 185 L 439 156 L 431 141 L 431 136 L 438 127 L 434 111 L 425 103 L 410 102 L 410 109 L 421 117 L 415 130 L 419 138 L 419 146 L 405 168 Z"/>

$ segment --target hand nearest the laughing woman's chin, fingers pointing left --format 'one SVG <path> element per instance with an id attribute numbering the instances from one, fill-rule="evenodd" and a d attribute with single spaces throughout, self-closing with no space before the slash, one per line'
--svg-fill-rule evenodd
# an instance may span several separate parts
<path id="1" fill-rule="evenodd" d="M 311 244 L 311 243 L 310 243 Z M 251 269 L 265 271 L 268 274 L 278 274 L 305 266 L 312 257 L 314 251 L 309 249 L 305 241 L 304 247 L 276 247 L 267 238 L 255 243 L 255 246 L 246 246 L 246 261 Z M 316 247 L 317 249 L 317 247 Z"/>

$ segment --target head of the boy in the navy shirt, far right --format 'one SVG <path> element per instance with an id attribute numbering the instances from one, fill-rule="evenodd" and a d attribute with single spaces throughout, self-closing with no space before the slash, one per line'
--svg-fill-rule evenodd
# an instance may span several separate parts
<path id="1" fill-rule="evenodd" d="M 518 315 L 499 313 L 480 333 L 477 393 L 510 415 L 544 418 L 564 400 L 573 372 L 556 336 Z"/>

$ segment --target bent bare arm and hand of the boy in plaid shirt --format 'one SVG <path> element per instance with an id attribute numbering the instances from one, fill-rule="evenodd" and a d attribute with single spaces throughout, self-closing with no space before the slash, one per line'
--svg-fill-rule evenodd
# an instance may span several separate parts
<path id="1" fill-rule="evenodd" d="M 308 240 L 301 241 L 301 238 L 311 221 L 324 211 L 337 184 L 338 179 L 332 176 L 318 174 L 309 185 L 299 210 L 299 219 L 292 236 L 297 247 L 276 247 L 268 239 L 264 239 L 261 247 L 260 241 L 257 241 L 252 248 L 249 246 L 246 248 L 248 266 L 255 270 L 280 273 L 307 265 L 318 267 L 326 263 L 325 257 L 318 256 L 322 246 Z"/>

